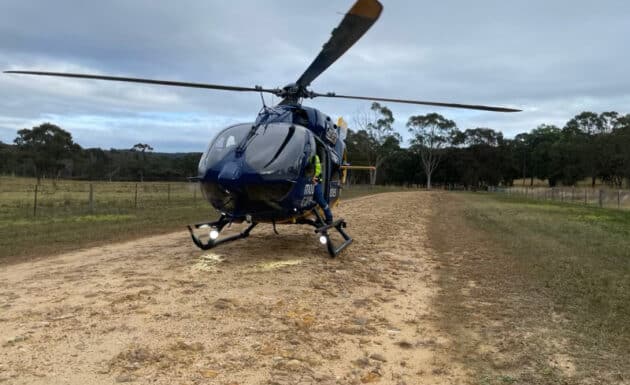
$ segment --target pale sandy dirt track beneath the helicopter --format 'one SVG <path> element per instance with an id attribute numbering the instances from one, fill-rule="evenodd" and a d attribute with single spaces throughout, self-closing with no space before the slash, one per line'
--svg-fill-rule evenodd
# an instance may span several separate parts
<path id="1" fill-rule="evenodd" d="M 355 243 L 257 227 L 210 252 L 184 231 L 0 272 L 0 383 L 460 383 L 435 326 L 435 196 L 343 202 Z"/>

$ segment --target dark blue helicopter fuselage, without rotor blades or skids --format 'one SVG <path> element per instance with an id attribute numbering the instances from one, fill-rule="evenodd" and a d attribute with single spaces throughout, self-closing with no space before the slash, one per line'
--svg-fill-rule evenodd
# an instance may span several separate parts
<path id="1" fill-rule="evenodd" d="M 314 155 L 322 167 L 324 197 L 339 198 L 345 143 L 339 127 L 317 109 L 265 107 L 253 123 L 230 126 L 199 162 L 201 190 L 212 206 L 240 221 L 282 223 L 314 206 Z"/>

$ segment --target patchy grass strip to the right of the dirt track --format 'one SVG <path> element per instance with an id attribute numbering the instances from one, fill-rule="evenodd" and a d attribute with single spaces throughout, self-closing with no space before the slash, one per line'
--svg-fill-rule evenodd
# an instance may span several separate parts
<path id="1" fill-rule="evenodd" d="M 432 230 L 444 322 L 479 383 L 628 381 L 630 212 L 448 199 Z"/>

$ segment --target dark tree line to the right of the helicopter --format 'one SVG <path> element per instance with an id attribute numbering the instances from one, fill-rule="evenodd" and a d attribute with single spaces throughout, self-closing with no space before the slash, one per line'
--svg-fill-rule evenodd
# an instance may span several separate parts
<path id="1" fill-rule="evenodd" d="M 630 114 L 582 112 L 563 127 L 542 124 L 514 139 L 487 127 L 459 129 L 437 113 L 415 115 L 407 148 L 393 123 L 391 110 L 373 103 L 346 138 L 352 164 L 377 166 L 378 184 L 486 188 L 540 179 L 554 187 L 588 179 L 630 187 Z"/>

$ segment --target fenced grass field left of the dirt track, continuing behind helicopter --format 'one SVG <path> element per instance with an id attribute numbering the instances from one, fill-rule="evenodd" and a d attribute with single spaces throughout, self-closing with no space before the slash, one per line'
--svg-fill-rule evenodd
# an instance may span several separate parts
<path id="1" fill-rule="evenodd" d="M 184 229 L 216 212 L 196 183 L 0 177 L 0 263 Z M 92 189 L 90 204 L 90 185 Z M 394 191 L 353 186 L 343 199 Z"/>

